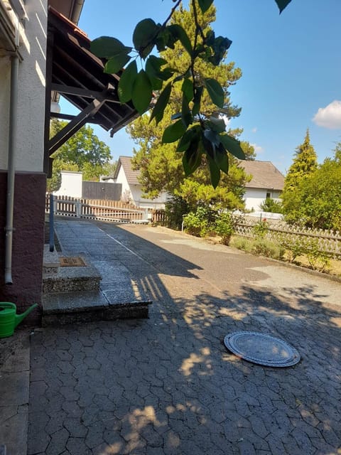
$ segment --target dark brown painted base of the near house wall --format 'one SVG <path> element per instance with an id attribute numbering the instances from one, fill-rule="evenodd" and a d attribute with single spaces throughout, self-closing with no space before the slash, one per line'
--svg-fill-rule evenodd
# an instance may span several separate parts
<path id="1" fill-rule="evenodd" d="M 0 301 L 16 304 L 18 313 L 34 303 L 25 323 L 39 323 L 45 229 L 45 173 L 16 173 L 13 219 L 13 284 L 5 284 L 7 173 L 0 171 Z M 23 322 L 23 323 L 24 323 Z"/>

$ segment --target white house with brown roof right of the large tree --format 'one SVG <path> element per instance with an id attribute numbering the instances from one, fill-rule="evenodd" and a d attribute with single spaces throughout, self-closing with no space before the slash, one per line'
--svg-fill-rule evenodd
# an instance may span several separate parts
<path id="1" fill-rule="evenodd" d="M 261 203 L 266 198 L 280 200 L 284 176 L 271 161 L 240 161 L 239 166 L 252 176 L 245 186 L 244 200 L 247 210 L 260 210 Z"/>

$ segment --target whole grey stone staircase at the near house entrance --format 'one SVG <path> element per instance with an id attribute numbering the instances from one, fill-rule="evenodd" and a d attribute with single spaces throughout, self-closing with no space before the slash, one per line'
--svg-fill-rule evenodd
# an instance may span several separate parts
<path id="1" fill-rule="evenodd" d="M 82 259 L 85 267 L 60 267 L 58 252 L 50 252 L 45 245 L 43 326 L 148 317 L 151 301 L 122 298 L 110 302 L 100 289 L 101 274 L 88 259 Z"/>

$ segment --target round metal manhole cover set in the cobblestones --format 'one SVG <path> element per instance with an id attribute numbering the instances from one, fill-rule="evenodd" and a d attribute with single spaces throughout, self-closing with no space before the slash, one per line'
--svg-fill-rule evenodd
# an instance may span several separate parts
<path id="1" fill-rule="evenodd" d="M 265 333 L 229 333 L 224 338 L 224 345 L 244 360 L 269 367 L 290 367 L 301 360 L 295 348 Z"/>

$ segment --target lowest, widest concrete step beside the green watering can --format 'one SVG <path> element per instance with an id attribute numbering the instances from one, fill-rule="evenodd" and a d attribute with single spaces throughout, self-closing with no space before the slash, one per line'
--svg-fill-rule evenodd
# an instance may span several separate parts
<path id="1" fill-rule="evenodd" d="M 147 318 L 151 301 L 121 297 L 111 303 L 102 291 L 64 292 L 43 296 L 42 325 Z"/>

